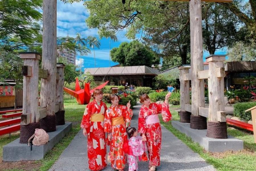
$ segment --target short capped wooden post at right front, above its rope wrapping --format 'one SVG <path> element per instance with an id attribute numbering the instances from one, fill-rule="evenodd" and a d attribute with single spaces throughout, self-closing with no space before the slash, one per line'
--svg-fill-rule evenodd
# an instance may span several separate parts
<path id="1" fill-rule="evenodd" d="M 226 122 L 224 103 L 224 77 L 225 68 L 223 61 L 226 55 L 210 55 L 206 58 L 209 62 L 208 91 L 210 122 Z"/>

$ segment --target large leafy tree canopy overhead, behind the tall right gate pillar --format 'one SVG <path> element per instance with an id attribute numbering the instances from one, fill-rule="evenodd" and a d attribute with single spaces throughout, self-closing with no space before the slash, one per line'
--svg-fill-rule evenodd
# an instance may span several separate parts
<path id="1" fill-rule="evenodd" d="M 80 0 L 68 2 L 75 1 Z M 232 46 L 236 41 L 245 41 L 248 30 L 252 28 L 247 24 L 248 21 L 255 23 L 254 12 L 251 10 L 254 9 L 253 1 L 245 4 L 247 5 L 238 1 L 202 2 L 203 45 L 210 54 L 214 54 L 217 49 Z M 128 38 L 136 39 L 135 35 L 141 34 L 143 42 L 152 47 L 160 57 L 179 56 L 182 64 L 187 63 L 190 53 L 188 2 L 126 0 L 122 3 L 108 0 L 106 3 L 105 0 L 91 0 L 85 1 L 84 5 L 90 11 L 90 16 L 86 19 L 88 27 L 98 28 L 100 36 L 113 30 L 127 29 Z M 249 10 L 243 10 L 245 6 Z M 241 13 L 245 16 L 239 16 Z M 249 18 L 247 23 L 243 19 L 246 16 Z"/>

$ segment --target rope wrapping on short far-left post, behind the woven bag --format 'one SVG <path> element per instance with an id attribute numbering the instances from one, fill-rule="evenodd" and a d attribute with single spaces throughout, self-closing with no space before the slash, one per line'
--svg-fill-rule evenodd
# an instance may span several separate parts
<path id="1" fill-rule="evenodd" d="M 36 128 L 40 128 L 39 122 L 20 125 L 20 143 L 28 143 L 28 139 L 35 133 Z"/>

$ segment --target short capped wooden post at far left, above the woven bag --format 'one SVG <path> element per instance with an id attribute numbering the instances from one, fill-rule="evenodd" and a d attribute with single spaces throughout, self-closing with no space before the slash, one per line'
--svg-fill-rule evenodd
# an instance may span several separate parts
<path id="1" fill-rule="evenodd" d="M 39 121 L 38 111 L 38 61 L 41 55 L 36 52 L 22 52 L 20 58 L 23 59 L 23 102 L 21 125 L 37 123 Z"/>

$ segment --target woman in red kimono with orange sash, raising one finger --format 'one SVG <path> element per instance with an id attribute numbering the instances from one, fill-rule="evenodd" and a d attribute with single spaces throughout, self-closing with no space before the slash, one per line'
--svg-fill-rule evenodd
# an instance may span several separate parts
<path id="1" fill-rule="evenodd" d="M 123 151 L 124 140 L 127 140 L 126 127 L 130 126 L 133 115 L 130 101 L 127 106 L 118 105 L 119 97 L 110 95 L 111 107 L 106 111 L 104 131 L 110 141 L 111 166 L 123 170 L 126 164 L 126 154 Z"/>

